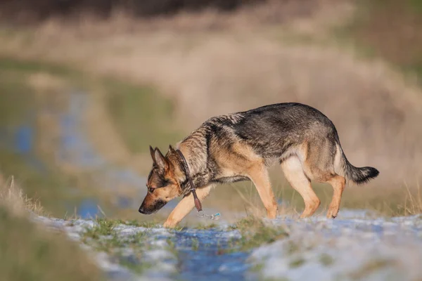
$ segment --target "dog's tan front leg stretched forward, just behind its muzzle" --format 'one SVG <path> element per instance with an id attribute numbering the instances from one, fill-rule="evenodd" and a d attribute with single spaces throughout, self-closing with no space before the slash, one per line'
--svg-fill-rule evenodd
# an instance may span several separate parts
<path id="1" fill-rule="evenodd" d="M 212 185 L 207 185 L 203 188 L 196 189 L 196 195 L 198 195 L 199 200 L 203 200 L 210 194 Z M 164 223 L 165 228 L 174 228 L 190 211 L 195 207 L 195 202 L 193 201 L 192 193 L 186 195 L 180 202 L 177 204 L 176 208 L 170 213 L 170 216 Z"/>

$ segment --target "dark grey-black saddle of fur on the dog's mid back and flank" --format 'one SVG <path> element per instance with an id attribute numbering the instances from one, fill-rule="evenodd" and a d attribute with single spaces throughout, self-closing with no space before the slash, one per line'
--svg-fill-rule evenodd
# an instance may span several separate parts
<path id="1" fill-rule="evenodd" d="M 305 140 L 337 136 L 333 123 L 321 112 L 300 103 L 279 103 L 241 112 L 233 124 L 236 135 L 265 159 L 284 159 Z"/>

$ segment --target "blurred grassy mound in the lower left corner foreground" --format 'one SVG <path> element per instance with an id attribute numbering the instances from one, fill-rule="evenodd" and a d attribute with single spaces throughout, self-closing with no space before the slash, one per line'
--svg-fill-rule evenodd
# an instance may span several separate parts
<path id="1" fill-rule="evenodd" d="M 23 194 L 14 176 L 4 180 L 0 174 L 1 280 L 100 280 L 98 268 L 77 244 L 36 226 L 30 213 L 46 215 L 37 200 Z"/>

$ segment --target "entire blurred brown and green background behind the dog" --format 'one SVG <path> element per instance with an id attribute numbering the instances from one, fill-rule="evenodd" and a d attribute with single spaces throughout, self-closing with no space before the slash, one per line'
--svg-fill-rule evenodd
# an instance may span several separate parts
<path id="1" fill-rule="evenodd" d="M 213 115 L 300 102 L 324 112 L 355 166 L 343 207 L 421 210 L 421 0 L 2 0 L 0 173 L 63 216 L 137 209 L 151 169 Z M 302 199 L 271 171 L 281 209 Z M 315 184 L 321 211 L 330 186 Z M 205 209 L 262 209 L 251 183 Z M 417 204 L 419 202 L 419 204 Z M 419 208 L 419 209 L 418 209 Z"/>

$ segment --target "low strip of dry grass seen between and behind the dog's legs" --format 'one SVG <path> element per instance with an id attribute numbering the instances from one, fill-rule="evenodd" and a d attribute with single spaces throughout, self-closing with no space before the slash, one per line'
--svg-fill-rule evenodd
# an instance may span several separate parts
<path id="1" fill-rule="evenodd" d="M 298 218 L 305 207 L 302 197 L 280 174 L 281 171 L 279 174 L 271 173 L 274 195 L 281 200 L 279 215 Z M 333 188 L 331 185 L 318 183 L 312 183 L 312 187 L 321 200 L 321 207 L 315 215 L 325 216 L 333 196 Z M 267 216 L 255 186 L 248 182 L 218 186 L 212 190 L 204 204 L 215 206 L 226 218 L 230 218 L 232 211 Z M 381 186 L 375 181 L 365 186 L 350 185 L 343 192 L 340 214 L 344 209 L 368 210 L 374 216 L 387 217 L 421 214 L 421 186 L 409 186 L 405 183 Z"/>

